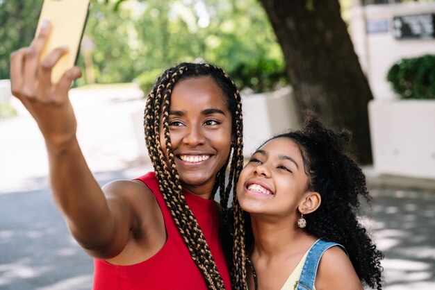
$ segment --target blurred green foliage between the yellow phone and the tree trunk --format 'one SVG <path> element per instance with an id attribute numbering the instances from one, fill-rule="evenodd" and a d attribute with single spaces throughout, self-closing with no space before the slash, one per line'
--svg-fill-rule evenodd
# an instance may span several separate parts
<path id="1" fill-rule="evenodd" d="M 108 1 L 110 2 L 110 1 Z M 286 83 L 284 58 L 265 11 L 256 0 L 113 1 L 133 11 L 140 87 L 148 92 L 164 69 L 203 60 L 223 67 L 254 92 Z M 121 5 L 120 5 L 121 4 Z"/>

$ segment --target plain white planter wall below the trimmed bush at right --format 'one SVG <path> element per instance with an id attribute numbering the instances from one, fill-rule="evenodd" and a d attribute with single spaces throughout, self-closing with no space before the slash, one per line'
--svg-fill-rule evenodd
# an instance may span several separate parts
<path id="1" fill-rule="evenodd" d="M 378 173 L 435 178 L 434 101 L 370 101 L 368 112 Z"/>

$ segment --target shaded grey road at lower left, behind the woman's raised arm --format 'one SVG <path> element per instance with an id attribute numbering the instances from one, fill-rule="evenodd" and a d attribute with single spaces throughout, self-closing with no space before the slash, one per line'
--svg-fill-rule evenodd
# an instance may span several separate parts
<path id="1" fill-rule="evenodd" d="M 95 177 L 101 185 L 132 178 L 126 171 Z M 22 191 L 0 192 L 0 289 L 91 289 L 92 258 L 69 234 L 47 178 L 32 178 L 26 185 Z"/>

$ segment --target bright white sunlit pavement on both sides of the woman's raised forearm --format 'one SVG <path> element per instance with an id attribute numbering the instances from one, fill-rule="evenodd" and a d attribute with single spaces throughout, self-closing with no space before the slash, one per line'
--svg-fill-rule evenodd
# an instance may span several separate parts
<path id="1" fill-rule="evenodd" d="M 142 95 L 131 88 L 71 90 L 77 138 L 91 171 L 114 171 L 147 162 Z M 5 137 L 0 145 L 0 194 L 46 186 L 34 182 L 49 172 L 37 124 L 17 99 L 11 101 L 19 116 L 0 121 L 0 135 Z"/>

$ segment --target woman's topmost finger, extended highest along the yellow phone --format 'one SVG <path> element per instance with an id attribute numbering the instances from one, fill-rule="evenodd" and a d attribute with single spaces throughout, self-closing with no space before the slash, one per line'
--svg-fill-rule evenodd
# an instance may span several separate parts
<path id="1" fill-rule="evenodd" d="M 47 20 L 44 20 L 41 24 L 40 32 L 35 37 L 28 47 L 25 55 L 24 63 L 24 92 L 28 96 L 34 96 L 35 87 L 38 80 L 38 65 L 40 62 L 40 56 L 44 50 L 47 40 L 50 35 L 51 26 Z"/>

